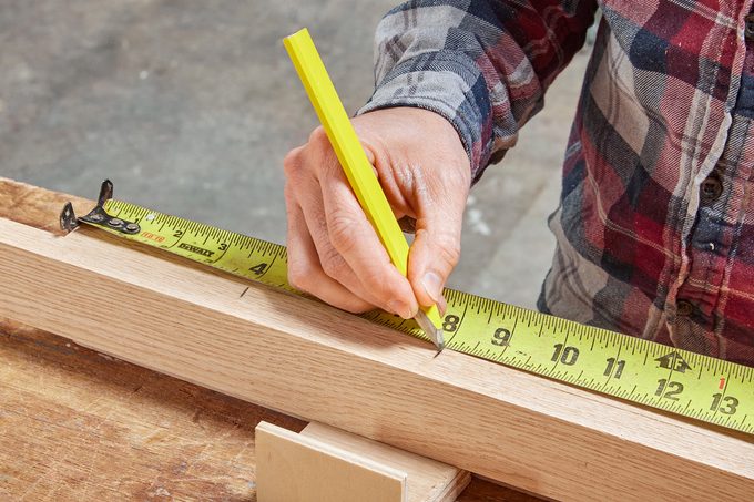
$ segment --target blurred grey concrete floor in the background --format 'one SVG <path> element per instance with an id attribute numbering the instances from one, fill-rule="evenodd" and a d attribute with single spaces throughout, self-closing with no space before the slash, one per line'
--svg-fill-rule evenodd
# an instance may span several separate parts
<path id="1" fill-rule="evenodd" d="M 282 38 L 308 27 L 349 111 L 398 0 L 3 0 L 0 176 L 285 242 L 282 160 L 316 117 Z M 469 199 L 450 286 L 533 307 L 587 53 Z"/>

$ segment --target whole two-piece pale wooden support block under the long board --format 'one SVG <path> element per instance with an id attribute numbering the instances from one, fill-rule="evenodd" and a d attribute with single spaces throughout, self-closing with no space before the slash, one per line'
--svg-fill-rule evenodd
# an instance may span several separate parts
<path id="1" fill-rule="evenodd" d="M 322 423 L 256 427 L 259 502 L 452 502 L 471 474 Z"/>

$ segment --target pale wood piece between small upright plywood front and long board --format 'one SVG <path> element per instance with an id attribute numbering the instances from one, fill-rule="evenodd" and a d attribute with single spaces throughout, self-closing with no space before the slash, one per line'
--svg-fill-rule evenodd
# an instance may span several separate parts
<path id="1" fill-rule="evenodd" d="M 371 441 L 324 423 L 312 422 L 299 434 L 405 472 L 408 502 L 452 502 L 461 494 L 471 479 L 468 471 Z"/>

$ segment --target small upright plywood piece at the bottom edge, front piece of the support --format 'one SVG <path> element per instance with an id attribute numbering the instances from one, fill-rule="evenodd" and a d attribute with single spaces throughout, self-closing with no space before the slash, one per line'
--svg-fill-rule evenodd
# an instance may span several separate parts
<path id="1" fill-rule="evenodd" d="M 407 502 L 405 471 L 326 441 L 256 427 L 259 502 Z"/>

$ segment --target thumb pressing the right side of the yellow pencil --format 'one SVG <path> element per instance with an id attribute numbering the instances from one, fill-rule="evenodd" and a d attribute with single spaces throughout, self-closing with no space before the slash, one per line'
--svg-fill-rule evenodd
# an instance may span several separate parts
<path id="1" fill-rule="evenodd" d="M 427 204 L 416 219 L 416 238 L 408 255 L 408 280 L 419 305 L 437 304 L 445 311 L 442 288 L 458 264 L 465 198 Z"/>

